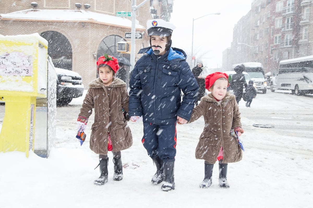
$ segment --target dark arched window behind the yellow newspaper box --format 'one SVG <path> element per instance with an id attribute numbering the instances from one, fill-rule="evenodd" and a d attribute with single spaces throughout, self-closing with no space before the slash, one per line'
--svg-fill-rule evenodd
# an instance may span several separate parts
<path id="1" fill-rule="evenodd" d="M 55 67 L 72 70 L 72 46 L 59 32 L 45 31 L 40 34 L 48 41 L 48 55 Z"/>

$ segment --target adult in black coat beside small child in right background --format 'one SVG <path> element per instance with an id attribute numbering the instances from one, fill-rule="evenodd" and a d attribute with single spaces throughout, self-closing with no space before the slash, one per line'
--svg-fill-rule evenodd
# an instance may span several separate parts
<path id="1" fill-rule="evenodd" d="M 244 71 L 244 65 L 238 65 L 234 68 L 236 74 L 233 75 L 230 85 L 233 89 L 233 94 L 236 96 L 237 104 L 242 98 L 244 92 L 244 86 L 247 87 L 246 78 L 242 73 Z"/>

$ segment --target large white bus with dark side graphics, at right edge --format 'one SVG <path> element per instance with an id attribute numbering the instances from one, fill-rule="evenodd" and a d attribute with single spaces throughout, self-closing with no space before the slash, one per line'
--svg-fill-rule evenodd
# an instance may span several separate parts
<path id="1" fill-rule="evenodd" d="M 278 74 L 271 80 L 271 91 L 291 90 L 296 95 L 313 93 L 313 56 L 279 62 Z"/>

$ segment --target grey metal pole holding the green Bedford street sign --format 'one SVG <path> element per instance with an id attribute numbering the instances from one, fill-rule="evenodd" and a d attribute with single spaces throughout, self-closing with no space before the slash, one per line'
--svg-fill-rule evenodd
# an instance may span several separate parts
<path id="1" fill-rule="evenodd" d="M 141 2 L 138 6 L 136 6 L 136 0 L 133 0 L 133 4 L 131 6 L 131 67 L 130 70 L 132 71 L 135 66 L 135 51 L 136 51 L 136 10 L 144 5 L 146 2 L 150 0 L 145 0 Z"/>

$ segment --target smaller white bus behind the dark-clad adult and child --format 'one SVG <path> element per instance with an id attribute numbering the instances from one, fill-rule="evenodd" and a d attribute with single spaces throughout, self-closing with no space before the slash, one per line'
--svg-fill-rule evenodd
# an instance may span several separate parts
<path id="1" fill-rule="evenodd" d="M 244 71 L 249 74 L 251 80 L 254 82 L 255 89 L 262 91 L 263 94 L 266 93 L 267 83 L 264 78 L 262 64 L 259 62 L 245 62 L 240 64 L 233 64 L 232 69 L 234 70 L 234 68 L 238 65 L 244 65 Z"/>

